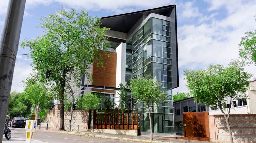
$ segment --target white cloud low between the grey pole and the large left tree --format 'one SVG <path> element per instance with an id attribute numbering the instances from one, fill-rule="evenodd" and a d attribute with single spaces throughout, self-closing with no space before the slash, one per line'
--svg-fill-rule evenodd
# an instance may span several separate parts
<path id="1" fill-rule="evenodd" d="M 25 80 L 30 75 L 30 73 L 32 73 L 32 67 L 30 63 L 23 62 L 21 60 L 16 61 L 11 91 L 23 92 L 24 87 L 20 82 Z"/>

